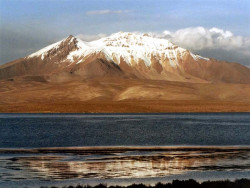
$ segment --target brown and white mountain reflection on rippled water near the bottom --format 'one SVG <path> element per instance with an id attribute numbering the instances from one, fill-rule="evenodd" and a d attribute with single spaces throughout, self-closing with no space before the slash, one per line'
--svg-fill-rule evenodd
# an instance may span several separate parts
<path id="1" fill-rule="evenodd" d="M 2 149 L 0 154 L 0 182 L 152 178 L 211 170 L 250 172 L 250 148 L 246 147 Z"/>

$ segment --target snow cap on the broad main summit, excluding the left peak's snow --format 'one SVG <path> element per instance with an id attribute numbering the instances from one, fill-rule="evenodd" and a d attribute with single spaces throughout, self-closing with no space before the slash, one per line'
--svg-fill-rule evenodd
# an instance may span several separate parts
<path id="1" fill-rule="evenodd" d="M 147 66 L 151 65 L 151 56 L 163 56 L 168 58 L 172 66 L 178 64 L 177 55 L 181 56 L 186 52 L 167 40 L 152 38 L 146 34 L 115 33 L 109 37 L 90 42 L 92 48 L 105 49 L 108 56 L 120 63 L 122 57 L 126 63 L 131 64 L 131 59 L 138 62 L 140 59 Z M 161 60 L 160 60 L 161 63 Z"/>

